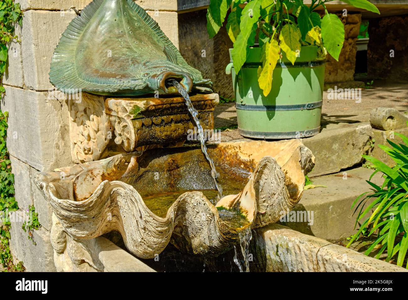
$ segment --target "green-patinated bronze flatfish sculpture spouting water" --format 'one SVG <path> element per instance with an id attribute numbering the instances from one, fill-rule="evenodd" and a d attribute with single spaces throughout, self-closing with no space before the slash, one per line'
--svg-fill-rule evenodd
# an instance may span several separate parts
<path id="1" fill-rule="evenodd" d="M 51 62 L 51 83 L 61 91 L 140 96 L 211 91 L 211 81 L 189 66 L 159 25 L 131 0 L 94 0 L 62 34 Z"/>

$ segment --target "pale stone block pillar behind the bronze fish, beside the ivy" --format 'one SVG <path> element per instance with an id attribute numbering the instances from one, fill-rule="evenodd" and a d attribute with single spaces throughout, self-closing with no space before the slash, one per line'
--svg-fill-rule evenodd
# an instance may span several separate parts
<path id="1" fill-rule="evenodd" d="M 50 96 L 53 86 L 48 73 L 53 51 L 62 32 L 90 0 L 20 0 L 24 10 L 23 26 L 16 29 L 21 44 L 9 45 L 9 62 L 4 74 L 6 93 L 2 111 L 9 112 L 7 148 L 15 176 L 19 214 L 35 206 L 42 227 L 33 240 L 22 230 L 21 222 L 11 224 L 10 249 L 27 271 L 55 271 L 50 242 L 52 210 L 34 184 L 38 171 L 53 171 L 73 165 L 69 142 L 69 112 L 65 100 Z M 178 47 L 176 0 L 136 1 L 155 19 Z"/>

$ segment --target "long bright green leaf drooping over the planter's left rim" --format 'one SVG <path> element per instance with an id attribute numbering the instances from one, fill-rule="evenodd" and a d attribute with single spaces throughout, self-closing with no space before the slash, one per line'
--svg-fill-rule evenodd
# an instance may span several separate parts
<path id="1" fill-rule="evenodd" d="M 249 47 L 255 43 L 255 33 L 257 22 L 260 16 L 261 0 L 253 0 L 246 4 L 242 10 L 241 23 L 239 24 L 240 33 L 234 43 L 231 56 L 235 72 L 239 72 L 246 57 L 248 56 Z"/>

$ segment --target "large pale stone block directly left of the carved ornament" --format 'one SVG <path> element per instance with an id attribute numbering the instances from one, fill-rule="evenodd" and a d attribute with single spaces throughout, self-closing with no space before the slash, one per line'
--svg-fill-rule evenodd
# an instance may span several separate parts
<path id="1" fill-rule="evenodd" d="M 2 111 L 9 112 L 7 149 L 11 156 L 44 171 L 71 165 L 68 109 L 46 92 L 6 86 Z"/>

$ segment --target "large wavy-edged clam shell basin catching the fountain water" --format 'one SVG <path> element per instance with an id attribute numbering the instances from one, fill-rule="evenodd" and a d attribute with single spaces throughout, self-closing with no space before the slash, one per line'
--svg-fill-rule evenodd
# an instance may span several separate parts
<path id="1" fill-rule="evenodd" d="M 138 258 L 154 258 L 169 242 L 217 256 L 243 229 L 276 222 L 293 209 L 314 166 L 300 140 L 225 143 L 208 153 L 227 195 L 217 203 L 208 162 L 190 147 L 119 154 L 40 172 L 35 181 L 71 238 L 118 231 Z"/>

